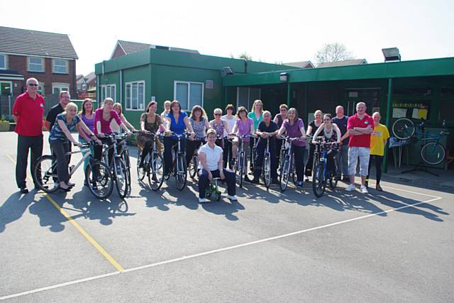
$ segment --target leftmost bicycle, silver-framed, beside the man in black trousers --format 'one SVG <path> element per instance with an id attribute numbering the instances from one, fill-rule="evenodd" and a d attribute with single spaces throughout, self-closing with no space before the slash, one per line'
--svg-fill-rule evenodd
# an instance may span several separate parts
<path id="1" fill-rule="evenodd" d="M 89 158 L 89 164 L 85 169 L 85 184 L 89 187 L 90 192 L 97 199 L 106 199 L 114 189 L 114 180 L 110 168 L 99 160 L 93 158 L 94 141 L 83 144 L 79 150 L 71 151 L 65 155 L 74 155 L 76 153 L 85 153 L 76 165 L 70 166 L 70 178 L 74 172 Z M 48 194 L 56 192 L 59 188 L 57 176 L 57 160 L 53 155 L 42 155 L 38 158 L 35 167 L 33 167 L 33 180 L 38 187 Z"/>

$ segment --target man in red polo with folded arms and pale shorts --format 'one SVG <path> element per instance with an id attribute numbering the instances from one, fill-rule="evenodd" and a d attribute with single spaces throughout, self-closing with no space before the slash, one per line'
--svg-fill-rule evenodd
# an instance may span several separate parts
<path id="1" fill-rule="evenodd" d="M 348 192 L 355 190 L 355 173 L 358 158 L 360 158 L 361 192 L 367 194 L 365 186 L 367 169 L 370 158 L 370 134 L 374 131 L 374 120 L 366 114 L 366 104 L 356 104 L 356 114 L 350 116 L 347 122 L 347 131 L 350 134 L 348 142 L 348 174 L 350 184 L 345 189 Z"/>

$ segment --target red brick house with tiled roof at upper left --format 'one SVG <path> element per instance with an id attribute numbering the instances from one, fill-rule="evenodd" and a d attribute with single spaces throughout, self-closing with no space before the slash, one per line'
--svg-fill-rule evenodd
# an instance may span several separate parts
<path id="1" fill-rule="evenodd" d="M 0 26 L 0 96 L 25 92 L 25 80 L 35 77 L 41 94 L 75 97 L 77 59 L 66 34 Z"/>

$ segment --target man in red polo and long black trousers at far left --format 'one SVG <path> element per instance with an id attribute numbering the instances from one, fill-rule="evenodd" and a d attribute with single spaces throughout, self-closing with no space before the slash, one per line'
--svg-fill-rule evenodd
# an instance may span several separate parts
<path id="1" fill-rule="evenodd" d="M 13 118 L 16 121 L 14 131 L 18 134 L 16 183 L 23 194 L 28 193 L 26 185 L 28 150 L 31 150 L 30 170 L 32 174 L 36 160 L 43 154 L 44 99 L 38 94 L 37 79 L 29 78 L 26 84 L 26 92 L 16 98 L 13 106 Z M 35 184 L 35 189 L 38 189 L 37 184 Z"/>

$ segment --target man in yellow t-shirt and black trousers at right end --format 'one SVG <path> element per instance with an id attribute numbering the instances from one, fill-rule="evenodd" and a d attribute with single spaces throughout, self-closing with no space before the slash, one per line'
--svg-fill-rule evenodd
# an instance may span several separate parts
<path id="1" fill-rule="evenodd" d="M 380 124 L 379 112 L 372 114 L 374 119 L 374 131 L 370 134 L 370 160 L 369 160 L 369 171 L 366 178 L 366 184 L 369 182 L 370 166 L 372 165 L 372 159 L 375 160 L 375 170 L 377 172 L 375 189 L 382 192 L 383 189 L 380 186 L 380 180 L 382 179 L 382 162 L 384 155 L 384 146 L 389 138 L 389 131 L 386 126 Z M 367 185 L 366 185 L 367 186 Z"/>

